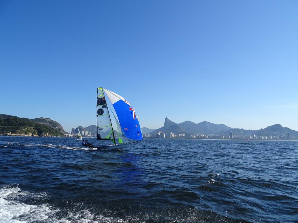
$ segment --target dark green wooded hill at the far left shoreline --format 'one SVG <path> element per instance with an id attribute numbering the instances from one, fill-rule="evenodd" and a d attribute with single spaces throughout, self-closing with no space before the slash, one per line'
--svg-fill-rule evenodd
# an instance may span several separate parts
<path id="1" fill-rule="evenodd" d="M 33 122 L 29 118 L 0 114 L 0 135 L 64 136 L 58 130 Z"/>

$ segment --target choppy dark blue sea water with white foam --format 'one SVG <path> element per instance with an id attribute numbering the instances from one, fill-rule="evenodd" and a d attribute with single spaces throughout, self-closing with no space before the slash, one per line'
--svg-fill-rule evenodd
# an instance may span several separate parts
<path id="1" fill-rule="evenodd" d="M 80 142 L 0 137 L 1 223 L 298 222 L 297 141 Z"/>

